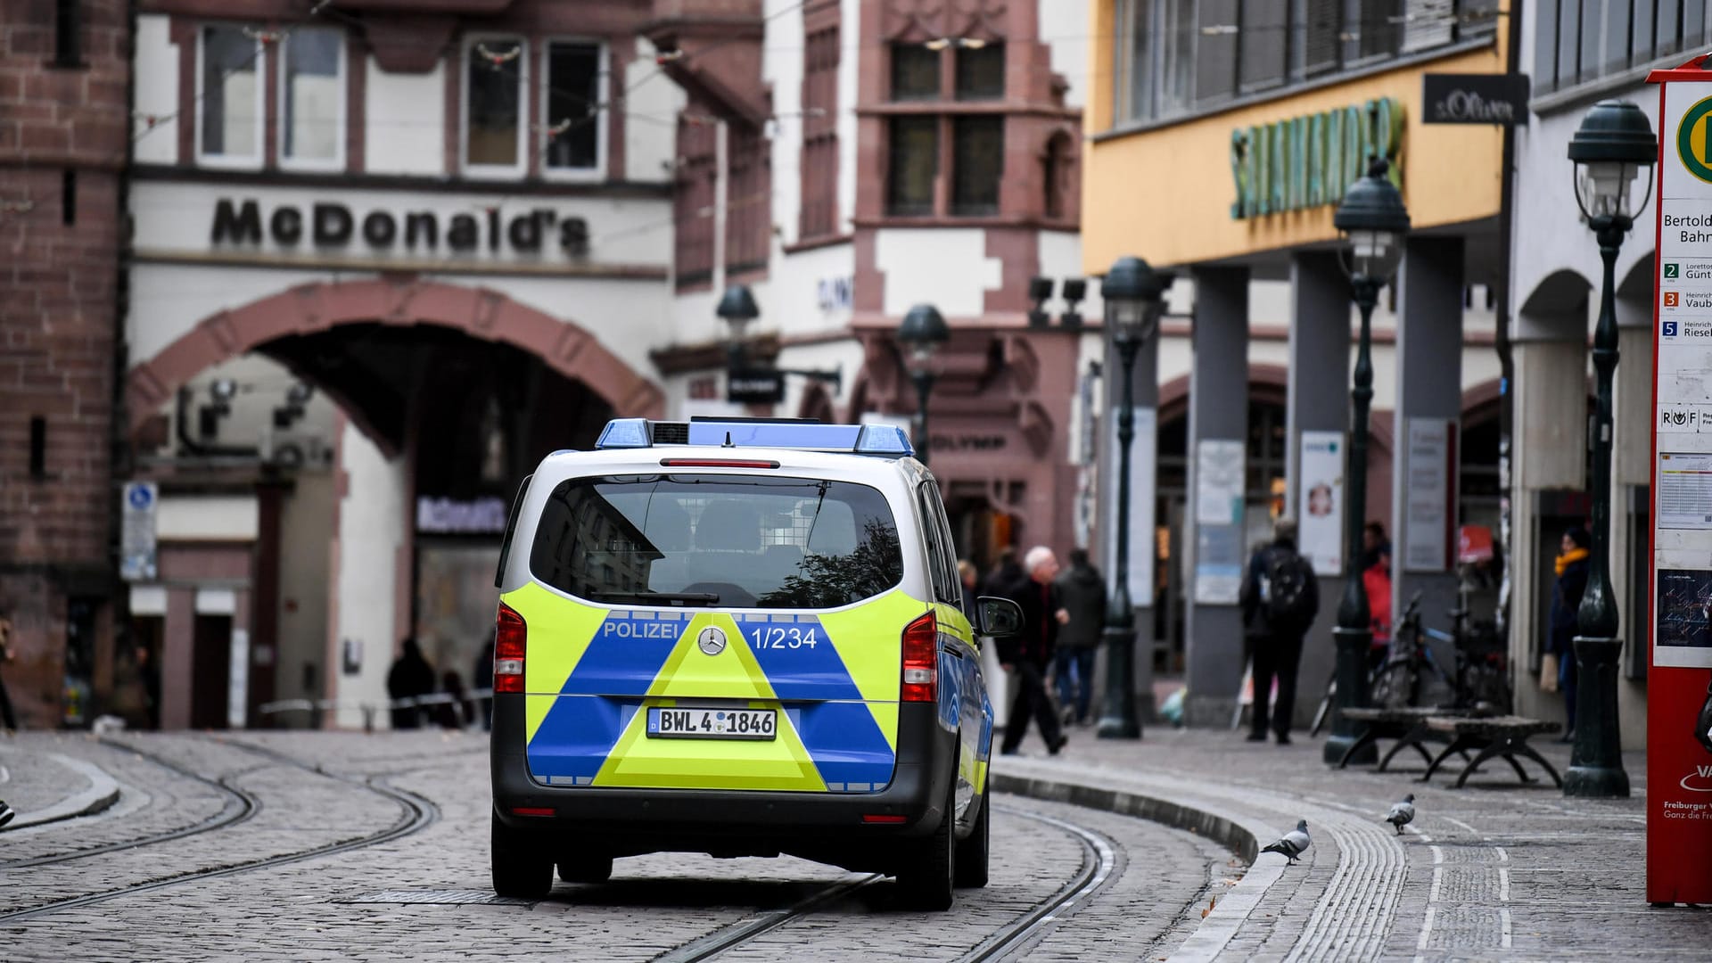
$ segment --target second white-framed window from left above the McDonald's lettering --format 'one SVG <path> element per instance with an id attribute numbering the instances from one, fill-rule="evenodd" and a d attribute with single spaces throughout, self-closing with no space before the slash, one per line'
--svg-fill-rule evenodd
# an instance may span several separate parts
<path id="1" fill-rule="evenodd" d="M 344 31 L 296 27 L 279 43 L 279 166 L 342 170 Z"/>

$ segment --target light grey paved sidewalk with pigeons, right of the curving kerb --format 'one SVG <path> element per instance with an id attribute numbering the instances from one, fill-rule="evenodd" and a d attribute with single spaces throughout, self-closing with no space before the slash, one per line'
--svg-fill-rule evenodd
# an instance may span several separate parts
<path id="1" fill-rule="evenodd" d="M 1625 759 L 1633 799 L 1566 800 L 1501 761 L 1455 790 L 1457 766 L 1424 785 L 1419 761 L 1339 771 L 1318 740 L 1248 744 L 1222 730 L 1149 728 L 1135 744 L 1087 733 L 1058 757 L 1037 740 L 1024 749 L 995 773 L 1195 799 L 1279 834 L 1308 819 L 1313 846 L 1222 960 L 1690 960 L 1712 948 L 1712 913 L 1644 901 L 1640 756 Z M 1543 749 L 1568 766 L 1568 747 Z M 1382 819 L 1407 792 L 1419 816 L 1399 838 Z"/>

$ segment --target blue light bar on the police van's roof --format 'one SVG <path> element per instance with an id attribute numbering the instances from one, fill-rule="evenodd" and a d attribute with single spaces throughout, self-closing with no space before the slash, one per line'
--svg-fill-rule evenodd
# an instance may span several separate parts
<path id="1" fill-rule="evenodd" d="M 916 454 L 897 425 L 817 425 L 803 422 L 647 422 L 615 418 L 601 432 L 597 449 L 690 444 L 722 447 L 788 447 L 827 452 L 909 458 Z"/>

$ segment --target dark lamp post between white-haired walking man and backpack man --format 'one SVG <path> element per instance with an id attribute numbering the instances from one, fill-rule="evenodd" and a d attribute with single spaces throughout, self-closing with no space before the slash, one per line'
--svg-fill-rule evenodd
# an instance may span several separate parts
<path id="1" fill-rule="evenodd" d="M 1130 442 L 1135 440 L 1135 355 L 1159 331 L 1159 312 L 1171 276 L 1140 257 L 1120 257 L 1099 286 L 1106 302 L 1106 329 L 1123 365 L 1123 403 L 1118 406 L 1118 559 L 1116 588 L 1106 607 L 1106 706 L 1101 739 L 1140 739 L 1135 716 L 1135 607 L 1130 603 Z"/>

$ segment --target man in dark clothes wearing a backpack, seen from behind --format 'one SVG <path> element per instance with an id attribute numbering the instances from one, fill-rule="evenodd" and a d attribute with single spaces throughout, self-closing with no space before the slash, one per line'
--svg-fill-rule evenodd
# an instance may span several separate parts
<path id="1" fill-rule="evenodd" d="M 1279 745 L 1289 745 L 1301 637 L 1320 613 L 1320 584 L 1313 577 L 1313 565 L 1296 552 L 1294 519 L 1281 517 L 1272 524 L 1272 543 L 1248 560 L 1239 601 L 1243 634 L 1253 651 L 1255 708 L 1248 742 L 1265 742 L 1270 715 Z M 1269 713 L 1267 697 L 1274 677 L 1279 680 L 1279 697 Z"/>

